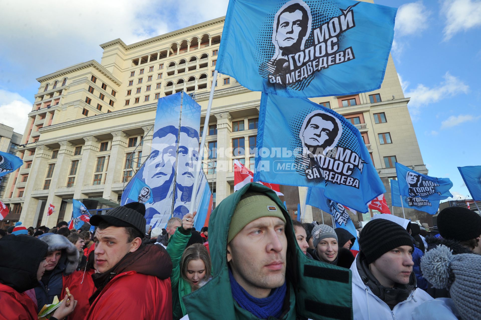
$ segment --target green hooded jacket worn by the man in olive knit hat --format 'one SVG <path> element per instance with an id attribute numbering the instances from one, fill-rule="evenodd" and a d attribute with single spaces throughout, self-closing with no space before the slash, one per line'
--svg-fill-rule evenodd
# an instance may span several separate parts
<path id="1" fill-rule="evenodd" d="M 251 182 L 225 198 L 215 207 L 209 219 L 209 250 L 212 259 L 212 280 L 183 298 L 187 314 L 198 319 L 257 319 L 241 309 L 230 289 L 227 238 L 234 210 L 246 192 L 261 192 L 270 197 L 286 218 L 288 240 L 286 279 L 290 287 L 290 311 L 282 318 L 310 319 L 353 318 L 351 270 L 332 266 L 304 255 L 297 245 L 291 217 L 277 194 L 270 188 Z"/>

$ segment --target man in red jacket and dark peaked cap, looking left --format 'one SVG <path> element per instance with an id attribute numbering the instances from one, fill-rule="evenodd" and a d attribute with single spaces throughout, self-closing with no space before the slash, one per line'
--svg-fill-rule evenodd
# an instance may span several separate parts
<path id="1" fill-rule="evenodd" d="M 161 245 L 142 245 L 144 214 L 132 203 L 90 218 L 98 273 L 86 320 L 172 320 L 172 261 Z"/>

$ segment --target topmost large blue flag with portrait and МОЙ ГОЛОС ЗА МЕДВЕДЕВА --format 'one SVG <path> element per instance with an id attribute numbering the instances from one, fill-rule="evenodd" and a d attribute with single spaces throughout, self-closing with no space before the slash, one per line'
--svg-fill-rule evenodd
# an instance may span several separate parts
<path id="1" fill-rule="evenodd" d="M 284 97 L 377 90 L 396 11 L 352 0 L 230 0 L 215 69 Z"/>

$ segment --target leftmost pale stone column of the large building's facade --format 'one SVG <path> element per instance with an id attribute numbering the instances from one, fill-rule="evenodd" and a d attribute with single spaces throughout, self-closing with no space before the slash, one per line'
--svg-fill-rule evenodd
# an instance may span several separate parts
<path id="1" fill-rule="evenodd" d="M 45 145 L 39 145 L 35 149 L 35 157 L 30 168 L 31 174 L 25 184 L 24 197 L 25 202 L 22 206 L 22 213 L 20 214 L 20 221 L 28 228 L 30 226 L 37 226 L 39 208 L 38 199 L 30 196 L 30 194 L 43 187 L 44 177 L 47 170 L 47 161 L 52 157 L 51 149 Z M 36 174 L 33 174 L 33 173 Z"/>

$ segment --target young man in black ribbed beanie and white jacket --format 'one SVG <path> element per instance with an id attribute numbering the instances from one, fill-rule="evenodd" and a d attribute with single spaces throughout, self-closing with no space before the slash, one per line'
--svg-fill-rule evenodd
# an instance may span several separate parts
<path id="1" fill-rule="evenodd" d="M 417 288 L 409 233 L 395 222 L 373 219 L 359 234 L 359 245 L 351 266 L 354 320 L 412 319 L 413 309 L 432 298 Z"/>

